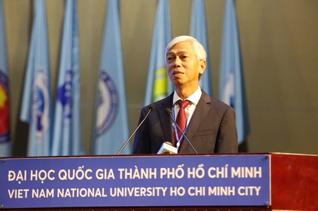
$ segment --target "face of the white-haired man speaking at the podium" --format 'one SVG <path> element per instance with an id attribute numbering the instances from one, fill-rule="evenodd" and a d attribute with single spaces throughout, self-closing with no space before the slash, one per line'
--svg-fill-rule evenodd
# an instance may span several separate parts
<path id="1" fill-rule="evenodd" d="M 165 57 L 168 75 L 172 83 L 178 87 L 197 88 L 199 73 L 205 69 L 205 61 L 198 62 L 192 44 L 188 41 L 175 44 Z"/>

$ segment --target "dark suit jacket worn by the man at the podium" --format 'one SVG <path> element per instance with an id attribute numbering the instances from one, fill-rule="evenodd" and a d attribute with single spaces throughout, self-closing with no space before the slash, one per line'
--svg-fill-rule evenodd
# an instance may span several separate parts
<path id="1" fill-rule="evenodd" d="M 133 154 L 157 154 L 163 142 L 173 143 L 173 122 L 165 109 L 172 107 L 173 93 L 155 104 L 135 135 Z M 142 108 L 139 123 L 145 118 L 149 106 Z M 210 97 L 202 90 L 201 98 L 185 134 L 198 153 L 237 153 L 238 134 L 235 111 L 231 106 Z M 174 144 L 172 144 L 174 145 Z M 183 139 L 179 154 L 193 154 Z"/>

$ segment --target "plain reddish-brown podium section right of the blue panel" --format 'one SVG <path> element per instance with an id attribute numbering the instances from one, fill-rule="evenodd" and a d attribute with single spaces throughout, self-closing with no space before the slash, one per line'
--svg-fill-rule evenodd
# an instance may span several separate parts
<path id="1" fill-rule="evenodd" d="M 318 210 L 318 156 L 271 153 L 272 210 Z"/>

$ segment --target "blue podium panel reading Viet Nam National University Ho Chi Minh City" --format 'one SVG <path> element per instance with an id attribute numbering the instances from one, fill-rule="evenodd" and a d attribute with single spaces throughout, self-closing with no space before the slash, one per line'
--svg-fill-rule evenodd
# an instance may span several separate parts
<path id="1" fill-rule="evenodd" d="M 6 158 L 6 208 L 270 205 L 270 155 Z"/>

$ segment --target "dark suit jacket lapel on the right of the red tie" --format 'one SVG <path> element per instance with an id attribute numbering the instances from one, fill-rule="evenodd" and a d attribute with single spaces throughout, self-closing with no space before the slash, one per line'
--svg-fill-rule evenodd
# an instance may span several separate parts
<path id="1" fill-rule="evenodd" d="M 198 102 L 197 107 L 195 108 L 193 115 L 192 115 L 191 122 L 190 122 L 189 127 L 188 127 L 188 131 L 185 134 L 186 137 L 189 139 L 189 141 L 191 141 L 193 135 L 198 130 L 202 120 L 208 114 L 210 109 L 211 109 L 211 98 L 208 94 L 206 94 L 202 90 L 201 98 Z M 189 144 L 188 144 L 187 140 L 183 139 L 182 144 L 180 146 L 179 153 L 182 153 L 185 150 L 185 148 L 188 147 L 188 145 Z"/>

